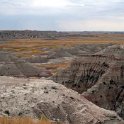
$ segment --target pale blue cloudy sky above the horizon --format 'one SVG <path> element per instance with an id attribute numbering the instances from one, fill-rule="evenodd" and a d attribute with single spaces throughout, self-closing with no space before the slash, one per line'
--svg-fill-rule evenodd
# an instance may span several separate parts
<path id="1" fill-rule="evenodd" d="M 124 31 L 124 0 L 0 0 L 0 30 Z"/>

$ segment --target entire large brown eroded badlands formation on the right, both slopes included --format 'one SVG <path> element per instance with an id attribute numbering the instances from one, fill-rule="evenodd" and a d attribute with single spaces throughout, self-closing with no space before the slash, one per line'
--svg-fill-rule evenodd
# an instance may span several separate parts
<path id="1" fill-rule="evenodd" d="M 107 51 L 107 52 L 106 52 Z M 124 118 L 124 49 L 111 46 L 100 54 L 75 59 L 53 80 L 74 89 L 96 105 Z"/>

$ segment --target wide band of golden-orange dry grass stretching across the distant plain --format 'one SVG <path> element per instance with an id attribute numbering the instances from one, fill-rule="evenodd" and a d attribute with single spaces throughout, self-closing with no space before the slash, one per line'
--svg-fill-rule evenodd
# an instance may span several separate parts
<path id="1" fill-rule="evenodd" d="M 98 37 L 69 37 L 58 40 L 18 39 L 0 44 L 0 49 L 11 51 L 20 57 L 31 57 L 37 54 L 47 54 L 50 49 L 71 47 L 78 44 L 124 44 L 123 35 L 98 35 Z M 47 48 L 47 50 L 44 50 Z"/>

